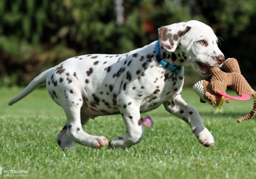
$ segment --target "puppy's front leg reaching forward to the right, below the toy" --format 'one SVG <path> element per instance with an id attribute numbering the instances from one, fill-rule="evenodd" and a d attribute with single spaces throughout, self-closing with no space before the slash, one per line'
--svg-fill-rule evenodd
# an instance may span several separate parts
<path id="1" fill-rule="evenodd" d="M 190 125 L 192 132 L 196 135 L 201 144 L 206 147 L 214 145 L 214 137 L 208 129 L 204 127 L 199 113 L 181 98 L 181 94 L 176 94 L 174 98 L 164 102 L 163 105 L 168 112 Z"/>

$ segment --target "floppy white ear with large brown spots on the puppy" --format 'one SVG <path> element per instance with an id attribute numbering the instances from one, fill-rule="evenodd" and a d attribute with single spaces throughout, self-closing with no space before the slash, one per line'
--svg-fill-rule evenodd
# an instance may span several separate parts
<path id="1" fill-rule="evenodd" d="M 184 36 L 190 29 L 191 27 L 189 27 L 185 22 L 175 23 L 159 28 L 159 38 L 162 47 L 169 52 L 174 52 L 180 42 L 181 37 Z"/>

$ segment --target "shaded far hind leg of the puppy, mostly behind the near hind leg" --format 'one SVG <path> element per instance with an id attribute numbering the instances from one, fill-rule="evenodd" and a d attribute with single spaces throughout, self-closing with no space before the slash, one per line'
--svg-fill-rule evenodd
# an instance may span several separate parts
<path id="1" fill-rule="evenodd" d="M 86 114 L 81 113 L 81 129 L 90 119 Z M 63 127 L 62 131 L 59 132 L 56 141 L 61 149 L 74 149 L 74 141 L 66 136 L 66 130 L 68 129 L 67 123 Z"/>

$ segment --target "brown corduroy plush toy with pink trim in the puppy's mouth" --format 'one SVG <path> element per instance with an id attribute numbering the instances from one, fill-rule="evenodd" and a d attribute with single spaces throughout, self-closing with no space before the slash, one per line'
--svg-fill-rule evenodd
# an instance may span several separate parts
<path id="1" fill-rule="evenodd" d="M 218 67 L 205 66 L 205 68 L 212 74 L 211 81 L 201 80 L 193 86 L 194 92 L 200 97 L 200 101 L 202 103 L 207 102 L 218 110 L 223 103 L 229 103 L 230 99 L 248 100 L 253 95 L 252 111 L 237 120 L 237 123 L 253 118 L 256 113 L 256 92 L 241 75 L 237 60 L 230 58 L 224 61 L 222 70 L 225 72 Z M 240 97 L 225 94 L 227 86 L 233 88 Z"/>

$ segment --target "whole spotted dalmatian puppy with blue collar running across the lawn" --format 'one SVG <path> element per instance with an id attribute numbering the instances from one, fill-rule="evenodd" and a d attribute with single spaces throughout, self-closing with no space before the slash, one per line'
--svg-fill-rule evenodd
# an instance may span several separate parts
<path id="1" fill-rule="evenodd" d="M 62 149 L 74 148 L 74 142 L 95 148 L 107 144 L 113 149 L 130 148 L 144 136 L 141 113 L 161 104 L 190 125 L 200 143 L 212 146 L 214 137 L 196 109 L 181 98 L 181 91 L 184 66 L 209 75 L 205 65 L 222 65 L 224 56 L 217 37 L 208 25 L 198 21 L 161 27 L 159 37 L 159 41 L 126 54 L 71 57 L 42 72 L 9 105 L 46 84 L 48 94 L 66 114 L 66 124 L 57 136 Z M 83 130 L 90 118 L 111 114 L 121 114 L 126 126 L 123 136 L 108 143 L 107 138 Z"/>

